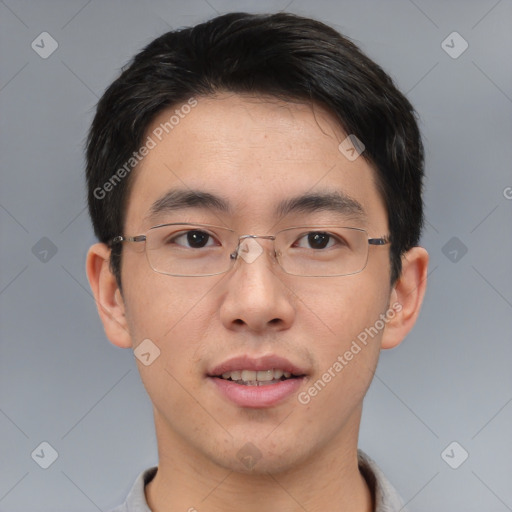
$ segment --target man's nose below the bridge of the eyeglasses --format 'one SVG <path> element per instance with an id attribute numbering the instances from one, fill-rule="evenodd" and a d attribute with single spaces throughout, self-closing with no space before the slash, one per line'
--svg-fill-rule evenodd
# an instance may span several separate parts
<path id="1" fill-rule="evenodd" d="M 271 239 L 240 239 L 237 261 L 225 280 L 220 308 L 221 321 L 227 329 L 263 333 L 285 330 L 293 324 L 293 294 L 281 278 Z"/>

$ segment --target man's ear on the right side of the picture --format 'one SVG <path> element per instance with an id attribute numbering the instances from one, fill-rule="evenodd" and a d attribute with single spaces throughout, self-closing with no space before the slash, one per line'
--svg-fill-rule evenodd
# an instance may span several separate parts
<path id="1" fill-rule="evenodd" d="M 402 273 L 389 300 L 389 311 L 395 315 L 388 315 L 381 340 L 383 349 L 399 345 L 416 323 L 427 288 L 427 269 L 428 253 L 423 247 L 413 247 L 402 256 Z"/>

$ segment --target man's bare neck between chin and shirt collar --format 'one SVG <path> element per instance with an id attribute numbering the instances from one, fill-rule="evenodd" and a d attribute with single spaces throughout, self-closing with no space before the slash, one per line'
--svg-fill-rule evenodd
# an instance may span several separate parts
<path id="1" fill-rule="evenodd" d="M 372 495 L 358 469 L 358 425 L 288 469 L 240 473 L 167 432 L 155 413 L 159 465 L 146 486 L 148 505 L 153 512 L 371 512 Z"/>

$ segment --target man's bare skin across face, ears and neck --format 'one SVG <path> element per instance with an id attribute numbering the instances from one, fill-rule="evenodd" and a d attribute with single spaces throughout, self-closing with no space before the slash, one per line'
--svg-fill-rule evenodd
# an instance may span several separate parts
<path id="1" fill-rule="evenodd" d="M 225 225 L 239 234 L 333 222 L 364 228 L 370 237 L 388 234 L 375 171 L 364 158 L 351 162 L 340 153 L 346 134 L 330 113 L 233 93 L 197 99 L 133 171 L 123 234 L 167 221 L 147 214 L 177 187 L 219 195 L 232 213 L 188 208 L 173 220 Z M 355 198 L 366 220 L 325 211 L 276 216 L 283 199 L 319 191 Z M 90 248 L 87 274 L 110 341 L 135 348 L 149 338 L 161 351 L 149 366 L 136 360 L 153 402 L 159 451 L 148 504 L 156 512 L 315 512 L 336 503 L 338 510 L 369 512 L 374 504 L 357 466 L 362 401 L 380 350 L 397 346 L 416 321 L 427 252 L 415 247 L 405 254 L 391 286 L 389 246 L 370 246 L 358 274 L 304 278 L 282 272 L 271 242 L 259 243 L 265 251 L 254 262 L 239 260 L 226 274 L 201 278 L 158 274 L 144 243 L 124 244 L 122 293 L 108 248 Z M 270 408 L 239 407 L 206 378 L 209 368 L 233 356 L 278 354 L 307 369 L 299 391 L 307 390 L 395 302 L 401 311 L 306 405 L 294 394 Z M 251 470 L 237 456 L 247 442 L 260 454 Z"/>

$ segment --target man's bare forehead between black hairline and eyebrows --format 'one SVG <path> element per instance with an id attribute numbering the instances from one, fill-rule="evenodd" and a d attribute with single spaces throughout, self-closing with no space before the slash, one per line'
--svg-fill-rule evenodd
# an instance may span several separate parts
<path id="1" fill-rule="evenodd" d="M 380 218 L 386 226 L 374 170 L 338 148 L 346 136 L 318 105 L 234 93 L 192 98 L 148 127 L 144 140 L 152 148 L 133 171 L 125 224 L 149 227 L 155 203 L 188 190 L 221 198 L 232 220 L 262 225 L 286 201 L 339 192 L 362 206 L 370 224 Z"/>

